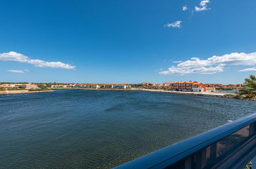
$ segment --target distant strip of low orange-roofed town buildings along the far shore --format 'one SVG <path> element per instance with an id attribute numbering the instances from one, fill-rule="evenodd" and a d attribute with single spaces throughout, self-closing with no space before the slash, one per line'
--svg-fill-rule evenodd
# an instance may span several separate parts
<path id="1" fill-rule="evenodd" d="M 215 90 L 239 90 L 243 88 L 244 84 L 229 84 L 222 85 L 220 83 L 201 83 L 197 81 L 174 81 L 164 83 L 149 83 L 142 82 L 139 84 L 75 84 L 75 83 L 0 83 L 1 91 L 13 90 L 28 90 L 28 91 L 46 91 L 50 89 L 62 88 L 88 88 L 88 89 L 132 89 L 132 88 L 145 88 L 145 89 L 163 89 L 169 91 L 181 92 L 215 92 Z"/>

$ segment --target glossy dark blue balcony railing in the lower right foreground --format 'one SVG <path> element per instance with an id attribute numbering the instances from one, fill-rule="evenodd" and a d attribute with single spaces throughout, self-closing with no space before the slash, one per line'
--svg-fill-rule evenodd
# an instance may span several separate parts
<path id="1" fill-rule="evenodd" d="M 253 158 L 255 167 L 255 156 L 256 113 L 116 168 L 243 168 Z"/>

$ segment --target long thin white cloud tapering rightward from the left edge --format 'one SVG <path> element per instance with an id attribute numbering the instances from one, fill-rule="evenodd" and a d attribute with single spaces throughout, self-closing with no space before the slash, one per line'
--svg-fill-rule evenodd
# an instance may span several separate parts
<path id="1" fill-rule="evenodd" d="M 31 59 L 28 56 L 25 56 L 21 53 L 9 52 L 9 53 L 0 53 L 0 60 L 3 61 L 19 61 L 27 64 L 34 65 L 35 67 L 50 67 L 50 68 L 61 68 L 61 69 L 74 69 L 75 66 L 69 64 L 63 64 L 60 61 L 48 62 L 39 59 Z"/>

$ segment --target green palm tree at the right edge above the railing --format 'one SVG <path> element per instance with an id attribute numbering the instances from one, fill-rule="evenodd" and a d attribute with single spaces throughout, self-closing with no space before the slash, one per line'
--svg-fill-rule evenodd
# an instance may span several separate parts
<path id="1" fill-rule="evenodd" d="M 250 78 L 246 78 L 244 79 L 244 88 L 243 89 L 240 89 L 240 94 L 243 95 L 243 94 L 246 94 L 246 95 L 250 95 L 253 93 L 255 93 L 256 91 L 256 77 L 255 75 L 250 75 L 249 76 Z"/>

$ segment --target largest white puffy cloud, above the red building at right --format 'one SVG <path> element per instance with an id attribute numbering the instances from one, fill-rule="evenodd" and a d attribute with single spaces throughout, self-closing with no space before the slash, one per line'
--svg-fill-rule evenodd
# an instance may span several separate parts
<path id="1" fill-rule="evenodd" d="M 226 65 L 250 65 L 256 64 L 256 52 L 254 53 L 230 53 L 223 56 L 212 56 L 205 60 L 192 57 L 180 62 L 177 66 L 171 66 L 166 71 L 160 72 L 165 75 L 184 75 L 191 73 L 214 74 L 223 72 Z M 250 68 L 251 69 L 251 68 Z"/>

